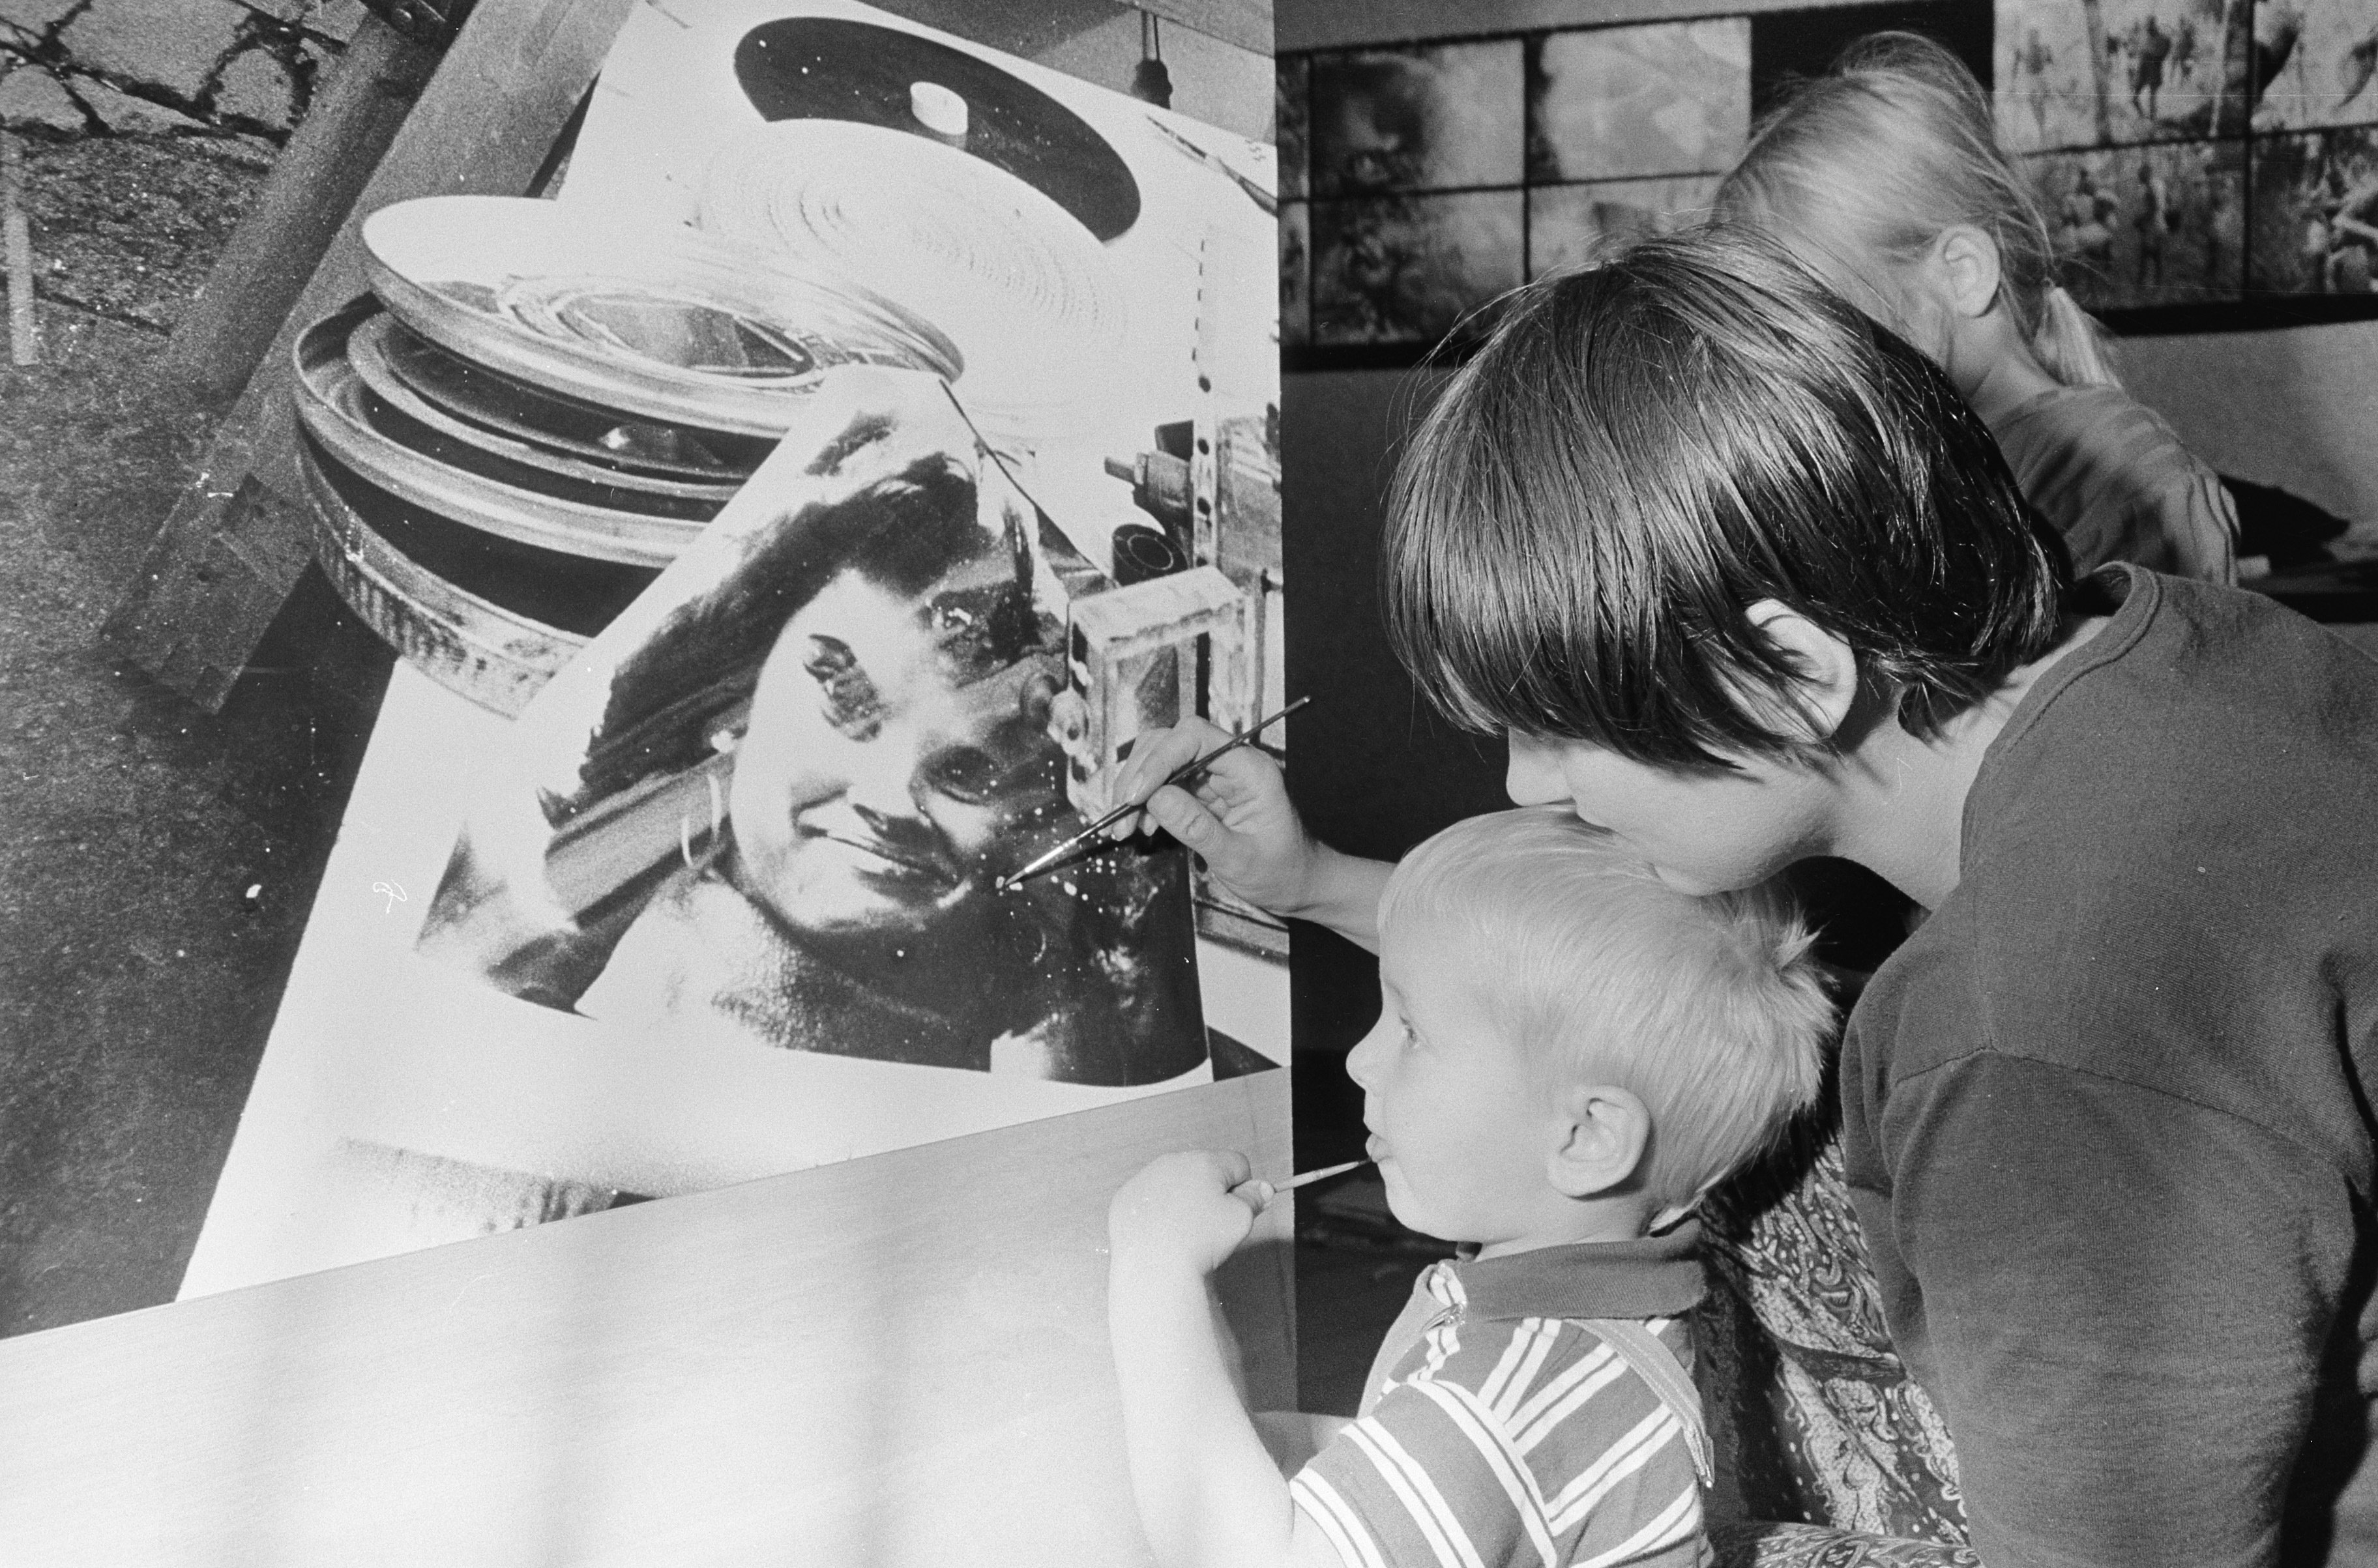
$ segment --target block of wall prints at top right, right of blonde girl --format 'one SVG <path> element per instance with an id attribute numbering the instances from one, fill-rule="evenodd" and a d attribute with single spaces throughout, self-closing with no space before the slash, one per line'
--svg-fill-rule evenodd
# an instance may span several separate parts
<path id="1" fill-rule="evenodd" d="M 1998 133 L 2121 330 L 2371 314 L 2378 5 L 2000 0 Z"/>

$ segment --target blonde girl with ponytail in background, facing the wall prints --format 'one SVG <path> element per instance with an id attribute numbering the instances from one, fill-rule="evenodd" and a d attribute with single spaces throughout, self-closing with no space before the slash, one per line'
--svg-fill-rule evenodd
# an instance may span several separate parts
<path id="1" fill-rule="evenodd" d="M 2105 328 L 2057 283 L 1988 95 L 1945 48 L 1914 33 L 1852 45 L 1757 126 L 1715 207 L 1948 371 L 2076 573 L 2133 561 L 2235 582 L 2228 492 L 2124 392 Z"/>

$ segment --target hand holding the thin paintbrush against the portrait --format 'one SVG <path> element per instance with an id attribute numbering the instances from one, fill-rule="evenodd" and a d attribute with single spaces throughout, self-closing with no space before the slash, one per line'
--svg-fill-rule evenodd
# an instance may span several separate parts
<path id="1" fill-rule="evenodd" d="M 1239 746 L 1215 758 L 1189 789 L 1163 784 L 1175 767 L 1227 739 L 1227 729 L 1206 720 L 1139 736 L 1132 758 L 1115 772 L 1115 801 L 1144 801 L 1146 808 L 1108 832 L 1127 839 L 1160 827 L 1203 855 L 1215 881 L 1239 898 L 1275 915 L 1303 915 L 1313 903 L 1322 846 L 1289 803 L 1289 784 L 1270 753 Z"/>

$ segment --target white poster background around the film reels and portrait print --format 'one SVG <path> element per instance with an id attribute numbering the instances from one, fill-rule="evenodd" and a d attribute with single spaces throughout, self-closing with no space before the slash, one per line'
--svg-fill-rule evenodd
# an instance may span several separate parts
<path id="1" fill-rule="evenodd" d="M 1011 176 L 961 173 L 951 200 L 946 185 L 916 171 L 949 178 L 961 169 L 949 154 L 963 152 L 968 135 L 916 133 L 906 138 L 916 147 L 894 159 L 908 178 L 870 178 L 863 166 L 820 173 L 820 150 L 856 157 L 851 147 L 866 150 L 868 140 L 832 119 L 770 126 L 732 69 L 735 50 L 756 29 L 787 19 L 885 29 L 1027 83 L 1113 152 L 1137 211 L 1111 238 L 1080 235 L 1087 245 L 1065 230 L 1046 254 L 994 245 L 989 259 L 956 257 L 939 268 L 920 261 L 916 276 L 899 276 L 885 257 L 937 242 L 963 249 L 968 230 L 954 228 L 949 214 L 996 207 L 999 181 Z M 920 90 L 916 112 L 927 131 L 954 124 L 935 93 Z M 977 131 L 996 128 L 996 116 L 980 107 L 975 114 Z M 1132 459 L 1158 444 L 1158 425 L 1201 437 L 1232 428 L 1244 440 L 1277 409 L 1270 181 L 1270 147 L 861 5 L 673 0 L 666 12 L 637 7 L 623 29 L 561 204 L 616 214 L 621 223 L 725 223 L 721 214 L 742 192 L 751 200 L 732 219 L 740 242 L 763 245 L 775 230 L 806 226 L 794 235 L 806 259 L 830 254 L 844 278 L 873 268 L 870 287 L 949 318 L 949 337 L 973 349 L 968 363 L 982 371 L 980 397 L 968 375 L 958 378 L 961 402 L 970 402 L 996 449 L 968 461 L 987 489 L 1027 492 L 1056 527 L 1056 554 L 1070 546 L 1103 568 L 1118 525 L 1149 525 L 1151 513 L 1134 504 L 1146 489 L 1144 466 L 1137 478 L 1115 470 L 1130 473 Z M 918 200 L 906 219 L 894 200 L 901 192 Z M 984 233 L 1056 233 L 1046 209 L 1044 200 L 1018 197 L 1025 228 L 1001 230 L 1006 219 L 984 219 Z M 851 221 L 835 228 L 835 214 Z M 904 221 L 894 249 L 882 249 L 885 226 Z M 1080 375 L 1049 387 L 1051 354 Z M 1179 459 L 1184 494 L 1213 497 L 1227 485 L 1215 475 L 1213 447 L 1225 459 L 1229 447 L 1201 444 Z M 730 506 L 723 523 L 732 516 Z M 1251 599 L 1248 625 L 1260 641 L 1248 653 L 1246 703 L 1270 708 L 1282 689 L 1277 501 L 1270 565 L 1248 565 L 1251 516 L 1239 506 L 1241 537 L 1218 546 L 1208 508 L 1199 539 L 1201 561 L 1220 549 L 1220 565 Z M 1189 523 L 1182 537 L 1194 532 Z M 1049 575 L 1046 561 L 1039 570 Z M 663 575 L 656 592 L 668 584 Z M 599 656 L 597 639 L 587 658 Z M 1208 1062 L 1160 1081 L 1094 1083 L 787 1050 L 732 1031 L 656 1026 L 649 1012 L 592 1017 L 602 1010 L 540 1005 L 421 953 L 423 919 L 464 820 L 516 765 L 521 725 L 533 720 L 535 708 L 504 720 L 397 668 L 183 1281 L 185 1297 L 1213 1079 Z M 1239 941 L 1201 936 L 1194 967 L 1203 1024 L 1284 1064 L 1284 955 L 1248 946 L 1244 931 Z M 1277 1076 L 1284 1095 L 1286 1074 Z"/>

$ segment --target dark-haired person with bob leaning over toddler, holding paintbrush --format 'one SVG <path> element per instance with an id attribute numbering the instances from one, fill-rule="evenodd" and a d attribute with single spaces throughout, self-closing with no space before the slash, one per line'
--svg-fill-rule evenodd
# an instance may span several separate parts
<path id="1" fill-rule="evenodd" d="M 1384 554 L 1403 660 L 1508 739 L 1512 801 L 1686 891 L 1843 855 L 1929 910 L 1850 1017 L 1841 1162 L 1955 1440 L 1940 1537 L 2378 1561 L 2378 663 L 2238 589 L 2069 584 L 1943 373 L 1722 228 L 1522 290 Z M 1206 739 L 1120 786 L 1374 943 L 1386 867 L 1265 758 L 1153 789 Z"/>

